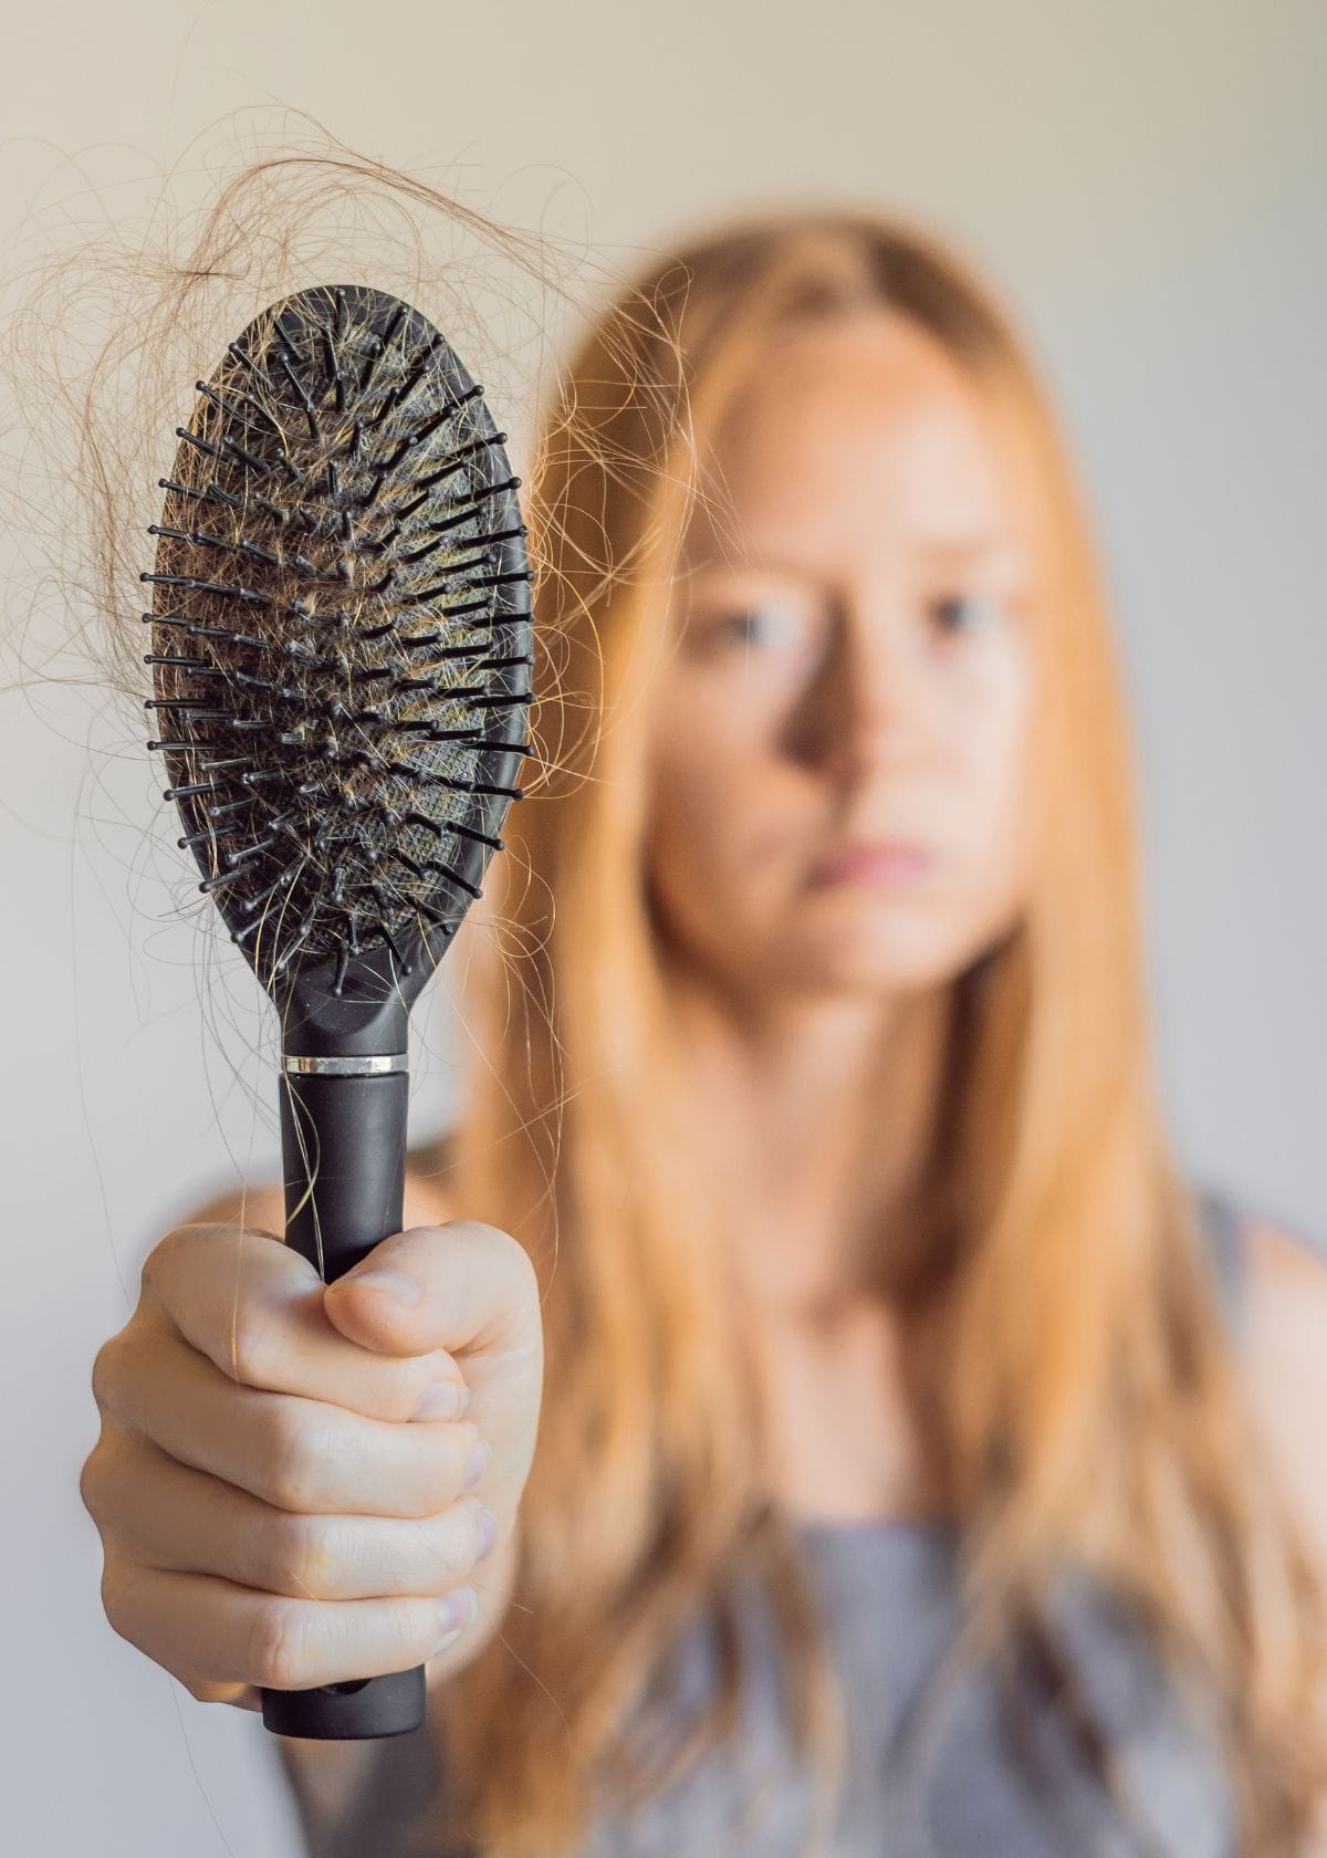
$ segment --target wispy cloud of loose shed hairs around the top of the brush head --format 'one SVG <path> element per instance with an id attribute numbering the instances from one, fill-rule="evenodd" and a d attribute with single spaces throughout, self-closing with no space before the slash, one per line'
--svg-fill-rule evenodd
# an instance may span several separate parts
<path id="1" fill-rule="evenodd" d="M 7 682 L 110 686 L 141 734 L 138 576 L 193 381 L 268 305 L 362 282 L 418 307 L 528 440 L 550 325 L 580 310 L 597 260 L 506 227 L 288 111 L 229 119 L 134 214 L 71 234 L 37 208 L 9 255 L 4 305 L 11 444 L 6 492 L 24 570 L 9 589 Z M 212 186 L 188 204 L 195 160 Z M 19 437 L 19 442 L 13 442 Z M 532 535 L 535 569 L 541 537 Z"/>

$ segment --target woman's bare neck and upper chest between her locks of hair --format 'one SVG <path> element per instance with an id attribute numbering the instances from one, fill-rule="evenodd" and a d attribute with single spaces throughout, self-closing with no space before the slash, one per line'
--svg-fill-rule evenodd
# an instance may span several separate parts
<path id="1" fill-rule="evenodd" d="M 719 1184 L 771 1496 L 823 1520 L 933 1516 L 890 1249 L 927 1241 L 952 992 L 734 1013 L 675 996 L 697 1141 Z"/>

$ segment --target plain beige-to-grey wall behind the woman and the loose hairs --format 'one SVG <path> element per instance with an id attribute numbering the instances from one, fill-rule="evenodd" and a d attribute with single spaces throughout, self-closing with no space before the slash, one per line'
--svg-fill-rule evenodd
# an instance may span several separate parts
<path id="1" fill-rule="evenodd" d="M 623 266 L 788 197 L 952 234 L 1022 316 L 1095 511 L 1180 1152 L 1325 1236 L 1325 74 L 1316 0 L 80 0 L 6 30 L 0 221 L 136 210 L 225 111 L 288 104 Z M 145 1250 L 271 1169 L 253 985 L 175 920 L 134 732 L 87 691 L 0 717 L 4 1841 L 275 1858 L 297 1839 L 271 1739 L 110 1631 L 76 1494 L 89 1362 Z M 448 1115 L 452 1039 L 440 1001 L 418 1130 Z"/>

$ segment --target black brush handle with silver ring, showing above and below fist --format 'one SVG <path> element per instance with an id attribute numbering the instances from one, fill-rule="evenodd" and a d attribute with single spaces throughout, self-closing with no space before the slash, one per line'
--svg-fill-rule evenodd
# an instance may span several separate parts
<path id="1" fill-rule="evenodd" d="M 301 1061 L 286 1059 L 292 1063 Z M 401 1068 L 372 1076 L 286 1070 L 282 1078 L 286 1245 L 303 1252 L 325 1284 L 401 1230 L 405 1189 L 405 1059 L 340 1063 L 361 1070 L 370 1063 Z M 262 1721 L 277 1735 L 316 1741 L 403 1735 L 424 1722 L 424 1694 L 422 1665 L 314 1691 L 264 1687 Z"/>

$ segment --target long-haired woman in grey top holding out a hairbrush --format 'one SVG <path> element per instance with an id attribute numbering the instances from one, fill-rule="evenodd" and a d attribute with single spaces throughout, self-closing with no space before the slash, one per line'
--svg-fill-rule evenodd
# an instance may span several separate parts
<path id="1" fill-rule="evenodd" d="M 426 1732 L 282 1747 L 320 1858 L 1308 1851 L 1327 1276 L 1171 1156 L 1007 320 L 868 214 L 721 230 L 532 502 L 558 773 L 452 957 L 465 1117 L 396 1282 L 269 1202 L 152 1252 L 112 1622 L 249 1706 L 429 1657 Z"/>

